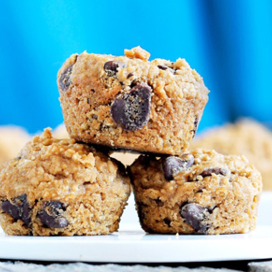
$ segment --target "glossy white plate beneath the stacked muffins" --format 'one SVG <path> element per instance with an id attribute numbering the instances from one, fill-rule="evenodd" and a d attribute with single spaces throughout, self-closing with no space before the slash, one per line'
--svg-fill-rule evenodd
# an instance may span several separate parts
<path id="1" fill-rule="evenodd" d="M 0 258 L 103 263 L 182 263 L 272 258 L 272 192 L 259 206 L 257 228 L 231 235 L 150 235 L 141 230 L 133 199 L 120 231 L 104 236 L 7 236 L 0 231 Z"/>

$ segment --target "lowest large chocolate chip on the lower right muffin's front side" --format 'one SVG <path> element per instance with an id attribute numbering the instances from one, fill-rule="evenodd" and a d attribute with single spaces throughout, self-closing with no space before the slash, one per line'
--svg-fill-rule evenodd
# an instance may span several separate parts
<path id="1" fill-rule="evenodd" d="M 207 224 L 208 209 L 196 203 L 187 203 L 180 208 L 180 215 L 185 219 L 196 233 L 206 233 L 209 225 Z"/>

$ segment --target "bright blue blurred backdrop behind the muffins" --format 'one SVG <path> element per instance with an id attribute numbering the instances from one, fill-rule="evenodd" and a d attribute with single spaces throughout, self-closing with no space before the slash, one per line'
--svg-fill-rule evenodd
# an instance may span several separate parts
<path id="1" fill-rule="evenodd" d="M 210 99 L 199 131 L 239 116 L 271 121 L 272 1 L 1 1 L 0 125 L 63 121 L 56 75 L 72 53 L 185 58 Z"/>

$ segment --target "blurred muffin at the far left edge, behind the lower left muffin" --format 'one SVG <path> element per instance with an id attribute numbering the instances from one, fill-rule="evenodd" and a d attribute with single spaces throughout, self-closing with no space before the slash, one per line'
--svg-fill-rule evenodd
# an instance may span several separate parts
<path id="1" fill-rule="evenodd" d="M 0 165 L 14 158 L 31 136 L 22 127 L 0 126 Z"/>

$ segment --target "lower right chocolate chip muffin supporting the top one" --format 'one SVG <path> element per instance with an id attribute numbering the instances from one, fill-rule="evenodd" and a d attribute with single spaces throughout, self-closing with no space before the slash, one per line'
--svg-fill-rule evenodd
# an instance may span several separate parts
<path id="1" fill-rule="evenodd" d="M 256 226 L 261 175 L 244 156 L 204 149 L 142 155 L 128 169 L 147 232 L 246 233 Z"/>

